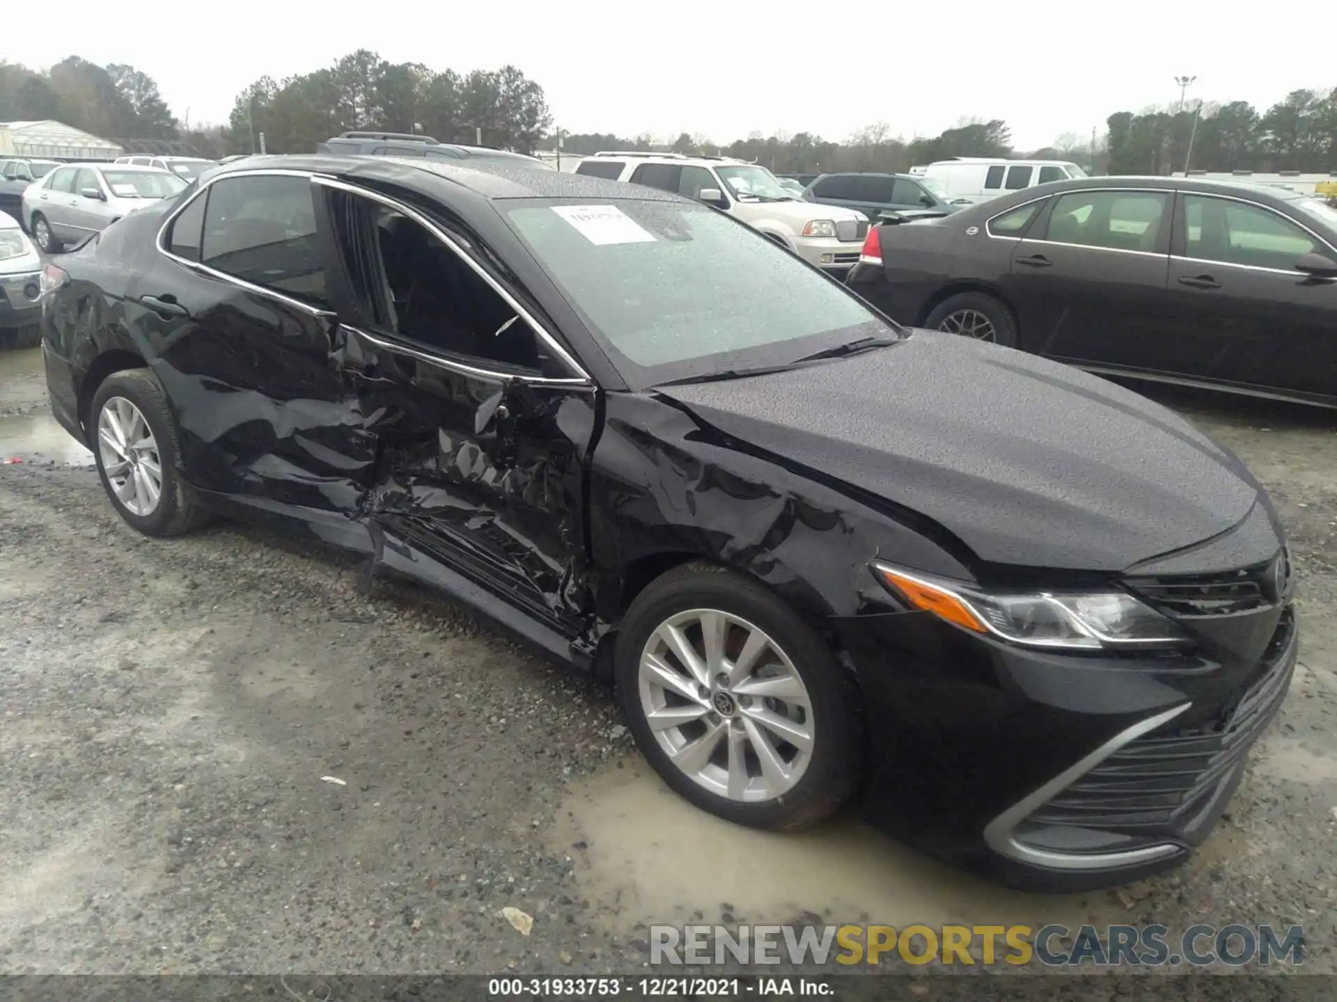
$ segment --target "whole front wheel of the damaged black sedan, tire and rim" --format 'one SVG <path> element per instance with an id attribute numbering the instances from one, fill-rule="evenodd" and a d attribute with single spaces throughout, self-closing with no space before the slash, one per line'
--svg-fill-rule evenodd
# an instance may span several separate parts
<path id="1" fill-rule="evenodd" d="M 697 807 L 773 831 L 812 826 L 854 790 L 858 715 L 830 647 L 781 599 L 687 564 L 627 611 L 614 652 L 632 736 Z"/>

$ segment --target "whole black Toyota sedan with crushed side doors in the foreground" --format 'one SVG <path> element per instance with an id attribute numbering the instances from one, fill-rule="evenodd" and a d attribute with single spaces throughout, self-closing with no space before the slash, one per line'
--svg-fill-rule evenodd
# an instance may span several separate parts
<path id="1" fill-rule="evenodd" d="M 1144 398 L 906 330 L 694 202 L 253 158 L 48 265 L 135 529 L 368 554 L 611 680 L 674 790 L 1016 886 L 1183 860 L 1296 660 L 1266 494 Z"/>

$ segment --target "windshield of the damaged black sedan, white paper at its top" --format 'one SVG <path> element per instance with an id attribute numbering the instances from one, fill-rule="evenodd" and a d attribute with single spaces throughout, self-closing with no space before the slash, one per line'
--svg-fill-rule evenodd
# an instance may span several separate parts
<path id="1" fill-rule="evenodd" d="M 511 226 L 635 387 L 896 337 L 845 289 L 706 206 L 527 202 Z"/>

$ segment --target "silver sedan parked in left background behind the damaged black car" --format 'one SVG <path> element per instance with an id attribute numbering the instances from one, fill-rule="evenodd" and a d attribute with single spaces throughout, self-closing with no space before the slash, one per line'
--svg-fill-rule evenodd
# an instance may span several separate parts
<path id="1" fill-rule="evenodd" d="M 41 250 L 55 254 L 186 187 L 185 180 L 158 167 L 67 164 L 24 190 L 23 223 Z"/>

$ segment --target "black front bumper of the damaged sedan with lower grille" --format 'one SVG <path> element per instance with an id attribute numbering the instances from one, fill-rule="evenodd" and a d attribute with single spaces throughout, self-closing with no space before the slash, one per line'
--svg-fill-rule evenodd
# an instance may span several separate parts
<path id="1" fill-rule="evenodd" d="M 1222 617 L 1227 619 L 1227 617 Z M 927 613 L 834 620 L 869 720 L 865 815 L 1013 887 L 1080 891 L 1163 871 L 1219 819 L 1296 664 L 1294 608 L 1246 657 L 1074 656 Z M 1241 633 L 1239 623 L 1211 629 Z"/>

